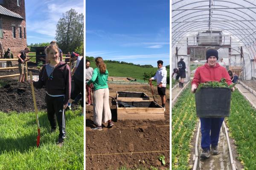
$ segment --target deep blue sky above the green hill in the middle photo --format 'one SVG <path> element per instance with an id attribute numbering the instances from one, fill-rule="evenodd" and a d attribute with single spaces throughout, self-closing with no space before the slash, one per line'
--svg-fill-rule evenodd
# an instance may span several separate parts
<path id="1" fill-rule="evenodd" d="M 86 56 L 169 65 L 169 0 L 86 0 Z"/>

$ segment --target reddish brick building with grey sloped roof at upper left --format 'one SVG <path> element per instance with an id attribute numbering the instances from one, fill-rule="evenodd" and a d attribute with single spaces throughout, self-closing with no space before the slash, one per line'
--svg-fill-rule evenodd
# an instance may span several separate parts
<path id="1" fill-rule="evenodd" d="M 25 0 L 0 0 L 0 41 L 14 56 L 27 46 Z"/>

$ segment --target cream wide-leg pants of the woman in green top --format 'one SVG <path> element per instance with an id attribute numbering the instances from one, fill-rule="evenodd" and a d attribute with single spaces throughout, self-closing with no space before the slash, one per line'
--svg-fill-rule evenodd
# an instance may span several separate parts
<path id="1" fill-rule="evenodd" d="M 93 91 L 93 122 L 101 126 L 102 122 L 106 123 L 111 119 L 111 110 L 109 106 L 108 88 Z"/>

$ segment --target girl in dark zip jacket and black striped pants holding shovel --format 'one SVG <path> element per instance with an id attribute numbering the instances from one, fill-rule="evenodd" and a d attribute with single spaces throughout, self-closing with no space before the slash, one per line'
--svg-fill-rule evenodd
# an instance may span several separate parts
<path id="1" fill-rule="evenodd" d="M 51 125 L 51 132 L 56 130 L 56 117 L 59 127 L 58 144 L 62 146 L 66 138 L 65 109 L 70 99 L 71 71 L 66 62 L 59 59 L 58 45 L 50 44 L 45 49 L 50 63 L 45 64 L 39 73 L 38 82 L 33 80 L 35 88 L 46 89 L 45 101 L 47 105 L 47 116 Z"/>

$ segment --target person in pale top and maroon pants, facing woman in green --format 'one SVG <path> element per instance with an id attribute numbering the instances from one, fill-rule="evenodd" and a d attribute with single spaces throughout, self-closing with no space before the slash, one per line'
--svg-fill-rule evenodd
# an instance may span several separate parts
<path id="1" fill-rule="evenodd" d="M 85 77 L 85 82 L 89 82 L 89 80 L 93 77 L 93 68 L 90 67 L 90 61 L 89 60 L 86 60 L 86 63 L 85 63 L 85 68 L 86 68 L 86 77 Z M 87 105 L 91 105 L 92 104 L 92 95 L 91 95 L 91 92 L 92 92 L 92 89 L 93 89 L 93 84 L 91 85 L 86 85 L 86 91 L 87 91 L 87 99 L 88 99 L 88 102 L 87 102 Z"/>

